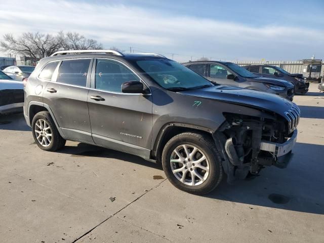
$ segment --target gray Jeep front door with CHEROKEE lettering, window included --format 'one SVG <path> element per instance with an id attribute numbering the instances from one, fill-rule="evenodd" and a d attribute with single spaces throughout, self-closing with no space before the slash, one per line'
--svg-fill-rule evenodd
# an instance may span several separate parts
<path id="1" fill-rule="evenodd" d="M 123 83 L 135 80 L 143 82 L 124 63 L 95 60 L 88 94 L 92 136 L 98 145 L 149 157 L 152 96 L 121 92 Z"/>

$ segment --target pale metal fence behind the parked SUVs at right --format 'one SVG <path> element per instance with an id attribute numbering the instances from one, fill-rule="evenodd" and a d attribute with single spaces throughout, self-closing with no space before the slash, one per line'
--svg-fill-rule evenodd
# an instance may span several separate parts
<path id="1" fill-rule="evenodd" d="M 290 73 L 303 73 L 303 62 L 302 61 L 233 61 L 240 66 L 254 65 L 254 64 L 266 64 L 281 67 Z M 322 62 L 322 68 L 320 76 L 323 76 L 324 62 Z"/>

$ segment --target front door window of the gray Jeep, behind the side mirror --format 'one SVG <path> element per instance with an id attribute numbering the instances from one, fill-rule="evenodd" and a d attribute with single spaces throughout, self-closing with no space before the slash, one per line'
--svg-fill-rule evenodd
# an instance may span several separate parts
<path id="1" fill-rule="evenodd" d="M 128 81 L 140 79 L 123 64 L 105 59 L 97 60 L 96 89 L 121 92 L 121 85 Z"/>

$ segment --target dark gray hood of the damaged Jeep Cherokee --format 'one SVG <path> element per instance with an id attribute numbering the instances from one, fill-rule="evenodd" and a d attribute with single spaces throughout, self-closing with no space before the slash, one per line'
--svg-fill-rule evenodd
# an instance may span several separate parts
<path id="1" fill-rule="evenodd" d="M 224 85 L 178 93 L 264 109 L 284 117 L 285 111 L 288 111 L 293 106 L 293 102 L 278 95 Z"/>

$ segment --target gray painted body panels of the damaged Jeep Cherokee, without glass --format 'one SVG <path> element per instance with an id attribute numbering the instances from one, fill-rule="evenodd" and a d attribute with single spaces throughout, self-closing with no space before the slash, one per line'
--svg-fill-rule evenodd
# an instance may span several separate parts
<path id="1" fill-rule="evenodd" d="M 55 78 L 38 79 L 37 75 L 46 63 L 71 59 L 71 55 L 48 57 L 39 62 L 25 88 L 24 110 L 27 124 L 30 125 L 32 118 L 28 116 L 30 102 L 39 102 L 50 108 L 50 113 L 61 131 L 60 134 L 66 139 L 154 159 L 150 151 L 156 150 L 158 140 L 168 126 L 190 127 L 214 133 L 225 121 L 223 112 L 268 117 L 270 115 L 262 110 L 282 114 L 283 110 L 288 110 L 293 105 L 292 102 L 276 95 L 265 95 L 247 89 L 214 87 L 192 91 L 192 93 L 171 92 L 161 88 L 137 65 L 134 65 L 135 60 L 143 58 L 141 55 L 129 54 L 119 57 L 109 54 L 87 54 L 86 57 L 111 58 L 124 63 L 139 75 L 141 81 L 149 88 L 150 95 L 115 94 L 95 90 L 93 80 L 89 82 L 90 72 L 85 88 L 58 84 Z M 144 57 L 160 59 L 156 56 Z M 85 55 L 73 55 L 73 58 L 85 58 Z M 40 86 L 41 88 L 36 88 Z M 57 92 L 51 95 L 52 93 L 47 92 L 49 88 L 54 88 Z M 35 94 L 37 89 L 38 93 Z M 104 96 L 105 102 L 90 100 L 91 95 Z M 200 102 L 199 105 L 197 102 Z M 121 133 L 142 138 L 132 138 Z M 91 136 L 93 140 L 90 139 Z"/>

